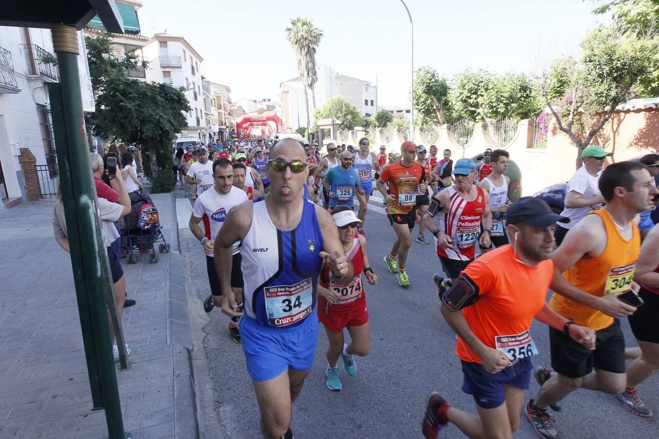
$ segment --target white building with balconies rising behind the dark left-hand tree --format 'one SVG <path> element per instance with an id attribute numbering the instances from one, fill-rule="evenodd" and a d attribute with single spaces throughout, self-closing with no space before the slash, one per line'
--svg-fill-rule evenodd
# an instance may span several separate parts
<path id="1" fill-rule="evenodd" d="M 208 126 L 204 111 L 202 73 L 204 59 L 182 36 L 155 34 L 142 49 L 144 60 L 149 62 L 146 80 L 169 82 L 186 89 L 190 111 L 185 113 L 187 126 L 181 128 L 183 136 L 193 136 L 208 142 Z"/>

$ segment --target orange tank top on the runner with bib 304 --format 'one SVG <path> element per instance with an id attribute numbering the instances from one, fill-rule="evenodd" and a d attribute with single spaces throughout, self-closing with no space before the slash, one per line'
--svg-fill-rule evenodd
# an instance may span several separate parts
<path id="1" fill-rule="evenodd" d="M 592 259 L 581 259 L 570 267 L 563 277 L 580 290 L 602 297 L 613 292 L 625 292 L 631 289 L 636 261 L 641 249 L 641 234 L 632 221 L 631 240 L 624 240 L 606 211 L 600 209 L 589 215 L 598 215 L 606 229 L 606 247 L 601 255 Z M 549 304 L 557 313 L 592 330 L 604 329 L 614 323 L 614 318 L 602 311 L 588 307 L 583 303 L 554 294 Z"/>

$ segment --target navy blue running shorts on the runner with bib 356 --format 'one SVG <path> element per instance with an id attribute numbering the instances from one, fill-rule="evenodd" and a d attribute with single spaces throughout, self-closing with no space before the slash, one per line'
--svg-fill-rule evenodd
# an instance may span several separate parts
<path id="1" fill-rule="evenodd" d="M 479 407 L 494 409 L 505 402 L 503 384 L 527 390 L 533 364 L 530 358 L 517 361 L 499 373 L 489 373 L 480 363 L 462 361 L 465 378 L 462 391 L 474 397 Z"/>

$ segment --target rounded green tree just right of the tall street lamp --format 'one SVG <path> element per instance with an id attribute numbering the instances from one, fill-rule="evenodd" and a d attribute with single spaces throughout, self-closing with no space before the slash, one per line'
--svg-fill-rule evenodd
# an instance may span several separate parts
<path id="1" fill-rule="evenodd" d="M 418 125 L 445 124 L 450 119 L 449 85 L 432 67 L 415 72 L 414 107 Z"/>

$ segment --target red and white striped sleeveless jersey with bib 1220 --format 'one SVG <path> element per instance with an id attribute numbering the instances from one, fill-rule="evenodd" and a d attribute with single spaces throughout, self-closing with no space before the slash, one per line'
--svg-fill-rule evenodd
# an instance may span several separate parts
<path id="1" fill-rule="evenodd" d="M 444 249 L 437 245 L 437 254 L 457 261 L 474 259 L 476 242 L 480 236 L 480 222 L 485 211 L 485 193 L 476 186 L 476 199 L 467 201 L 456 192 L 453 186 L 449 192 L 449 211 L 442 215 L 442 232 L 451 237 L 453 247 Z"/>

